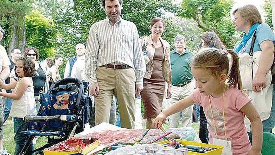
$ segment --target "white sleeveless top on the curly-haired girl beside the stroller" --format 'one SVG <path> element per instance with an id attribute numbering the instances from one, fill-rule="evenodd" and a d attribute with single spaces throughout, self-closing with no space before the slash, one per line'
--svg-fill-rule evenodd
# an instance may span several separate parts
<path id="1" fill-rule="evenodd" d="M 25 78 L 28 78 L 32 82 L 31 77 Z M 17 88 L 21 80 L 22 79 L 17 81 L 17 84 L 15 85 L 15 92 L 17 91 Z M 33 86 L 27 87 L 23 96 L 19 100 L 13 100 L 9 116 L 23 118 L 26 115 L 36 114 L 36 102 L 33 95 Z"/>

